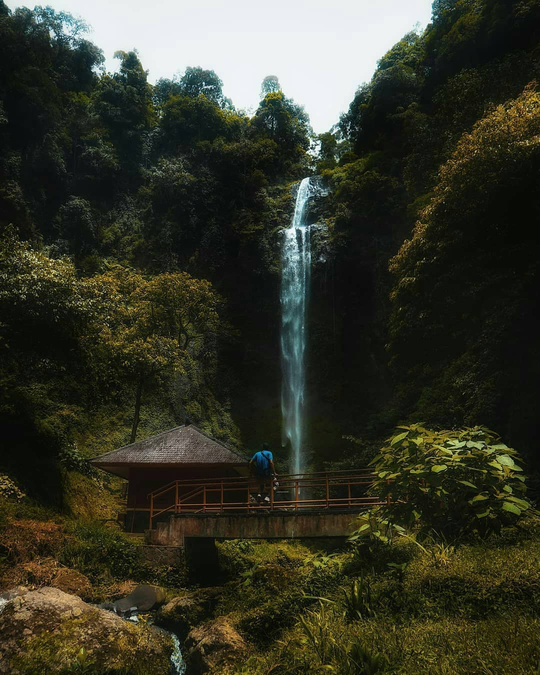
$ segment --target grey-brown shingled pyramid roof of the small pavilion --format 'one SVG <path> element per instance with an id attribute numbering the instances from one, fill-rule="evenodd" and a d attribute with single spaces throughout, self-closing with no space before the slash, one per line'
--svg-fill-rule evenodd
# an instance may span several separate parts
<path id="1" fill-rule="evenodd" d="M 183 425 L 163 431 L 142 441 L 94 457 L 90 463 L 97 468 L 126 475 L 130 466 L 140 465 L 201 465 L 228 464 L 239 466 L 246 458 L 228 448 L 225 443 L 200 431 L 194 425 Z"/>

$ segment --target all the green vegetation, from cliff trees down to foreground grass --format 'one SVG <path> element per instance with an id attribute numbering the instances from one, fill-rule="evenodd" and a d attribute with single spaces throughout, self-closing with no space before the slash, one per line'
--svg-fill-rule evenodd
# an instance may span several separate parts
<path id="1" fill-rule="evenodd" d="M 287 466 L 279 232 L 320 175 L 307 450 L 383 505 L 330 552 L 219 544 L 231 672 L 538 672 L 539 31 L 539 0 L 435 0 L 316 136 L 275 76 L 248 115 L 0 0 L 0 589 L 186 592 L 91 456 L 189 416 Z M 27 672 L 95 672 L 32 640 Z"/>

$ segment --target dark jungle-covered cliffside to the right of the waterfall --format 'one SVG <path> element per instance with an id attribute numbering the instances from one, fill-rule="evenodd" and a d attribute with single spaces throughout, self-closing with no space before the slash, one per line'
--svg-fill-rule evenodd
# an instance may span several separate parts
<path id="1" fill-rule="evenodd" d="M 398 419 L 485 424 L 539 465 L 539 20 L 435 1 L 323 134 L 335 329 L 317 314 L 311 349 L 368 453 Z"/>

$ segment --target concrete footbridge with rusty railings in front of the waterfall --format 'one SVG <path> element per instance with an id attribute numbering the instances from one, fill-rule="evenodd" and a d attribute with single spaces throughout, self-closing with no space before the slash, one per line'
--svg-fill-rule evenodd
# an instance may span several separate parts
<path id="1" fill-rule="evenodd" d="M 200 574 L 217 569 L 216 540 L 345 539 L 356 516 L 380 504 L 367 495 L 369 470 L 319 472 L 279 477 L 265 491 L 248 477 L 173 481 L 148 495 L 146 544 L 182 547 Z"/>

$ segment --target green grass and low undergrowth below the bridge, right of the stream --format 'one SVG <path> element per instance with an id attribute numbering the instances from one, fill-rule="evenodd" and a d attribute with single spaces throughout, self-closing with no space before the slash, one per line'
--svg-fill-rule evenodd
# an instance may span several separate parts
<path id="1" fill-rule="evenodd" d="M 221 553 L 238 576 L 217 613 L 253 649 L 238 672 L 538 674 L 540 519 L 423 547 L 363 544 L 317 568 L 300 544 L 228 542 Z"/>

